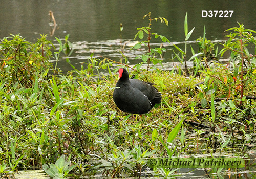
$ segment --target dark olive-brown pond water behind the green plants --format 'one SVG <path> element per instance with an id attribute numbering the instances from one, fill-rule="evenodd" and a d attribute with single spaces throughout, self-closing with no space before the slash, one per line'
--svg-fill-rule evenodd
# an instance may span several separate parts
<path id="1" fill-rule="evenodd" d="M 51 10 L 56 19 L 57 28 L 54 35 L 49 35 L 49 40 L 55 40 L 54 36 L 64 38 L 70 34 L 69 40 L 74 44 L 74 53 L 71 63 L 79 65 L 86 60 L 90 53 L 103 59 L 104 56 L 118 59 L 121 55 L 120 42 L 132 41 L 136 34 L 136 28 L 146 26 L 148 21 L 143 16 L 151 12 L 152 17 L 165 17 L 169 26 L 152 23 L 152 32 L 166 36 L 172 42 L 184 41 L 184 17 L 188 12 L 188 29 L 195 27 L 190 39 L 195 40 L 203 35 L 203 26 L 206 27 L 206 37 L 210 40 L 223 40 L 226 29 L 238 26 L 237 21 L 243 23 L 246 28 L 256 30 L 256 1 L 170 1 L 170 0 L 27 0 L 7 1 L 2 0 L 0 6 L 0 38 L 10 33 L 20 33 L 28 41 L 35 41 L 39 34 L 50 34 Z M 202 18 L 202 10 L 233 10 L 230 18 Z M 120 32 L 120 23 L 123 31 Z M 120 40 L 122 39 L 122 40 Z M 160 42 L 160 41 L 158 41 Z M 55 42 L 56 44 L 56 42 Z M 182 45 L 180 47 L 183 47 Z M 126 56 L 133 59 L 136 53 L 130 53 L 126 48 Z M 167 51 L 170 50 L 167 48 Z M 197 51 L 197 49 L 195 49 Z M 167 54 L 165 59 L 171 59 Z M 133 62 L 136 63 L 136 62 Z M 66 60 L 58 65 L 63 69 L 69 69 Z M 66 69 L 67 68 L 67 69 Z"/>

